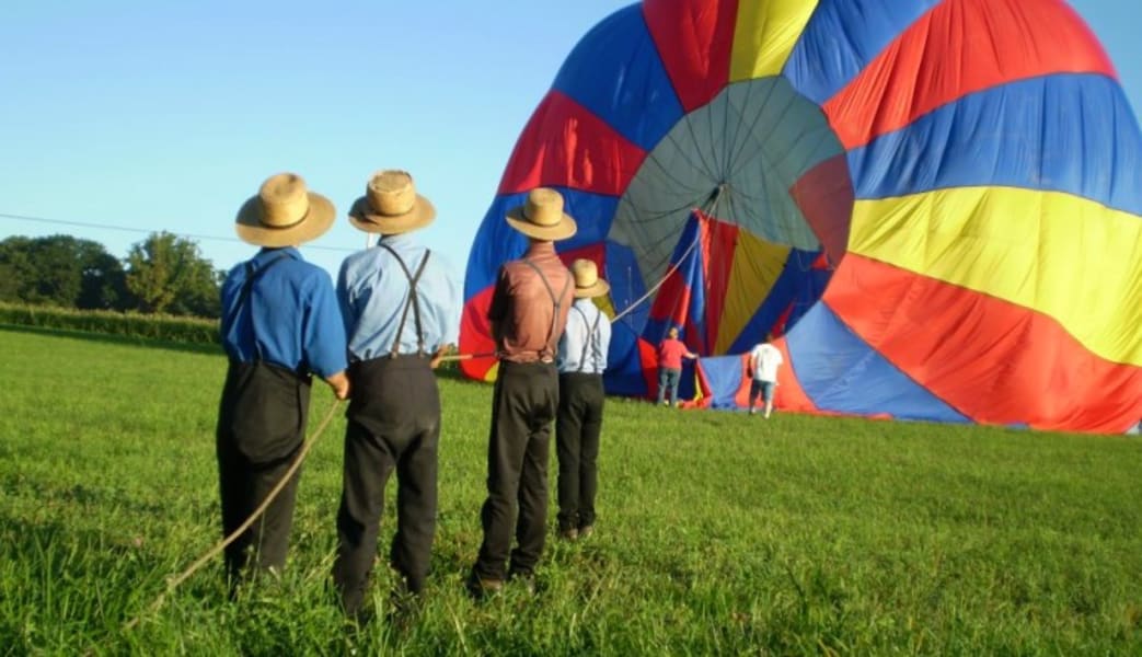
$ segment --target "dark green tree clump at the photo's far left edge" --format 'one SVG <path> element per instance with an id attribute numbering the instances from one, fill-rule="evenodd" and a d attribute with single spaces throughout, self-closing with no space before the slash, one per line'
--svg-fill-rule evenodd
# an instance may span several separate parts
<path id="1" fill-rule="evenodd" d="M 123 267 L 103 245 L 71 235 L 0 242 L 0 299 L 121 310 Z"/>

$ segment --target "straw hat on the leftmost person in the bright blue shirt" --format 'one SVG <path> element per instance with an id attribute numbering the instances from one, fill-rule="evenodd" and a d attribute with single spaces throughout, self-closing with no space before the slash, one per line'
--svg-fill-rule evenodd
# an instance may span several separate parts
<path id="1" fill-rule="evenodd" d="M 251 245 L 292 247 L 320 238 L 336 215 L 333 203 L 306 190 L 301 176 L 278 174 L 262 183 L 258 195 L 242 203 L 234 230 Z"/>

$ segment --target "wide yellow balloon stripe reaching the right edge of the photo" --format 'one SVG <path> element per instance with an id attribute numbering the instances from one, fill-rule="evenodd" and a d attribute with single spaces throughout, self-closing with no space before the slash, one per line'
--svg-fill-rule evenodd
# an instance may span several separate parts
<path id="1" fill-rule="evenodd" d="M 858 202 L 850 253 L 1051 317 L 1101 358 L 1142 366 L 1142 306 L 1127 301 L 1140 243 L 1139 217 L 1077 197 L 966 187 Z"/>

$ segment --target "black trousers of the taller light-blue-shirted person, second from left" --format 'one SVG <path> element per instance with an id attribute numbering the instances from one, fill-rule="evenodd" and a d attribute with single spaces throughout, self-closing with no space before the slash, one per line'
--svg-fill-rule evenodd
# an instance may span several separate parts
<path id="1" fill-rule="evenodd" d="M 389 562 L 420 593 L 436 534 L 440 392 L 427 358 L 354 363 L 345 431 L 333 582 L 347 614 L 360 610 L 377 555 L 385 484 L 396 471 L 396 535 Z"/>

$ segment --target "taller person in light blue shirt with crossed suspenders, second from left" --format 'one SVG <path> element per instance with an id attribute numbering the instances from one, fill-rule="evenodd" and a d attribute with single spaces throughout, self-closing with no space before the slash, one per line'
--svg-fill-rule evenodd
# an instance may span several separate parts
<path id="1" fill-rule="evenodd" d="M 412 177 L 372 176 L 349 210 L 376 247 L 341 264 L 337 296 L 348 334 L 353 401 L 345 432 L 333 582 L 345 612 L 363 620 L 385 484 L 396 470 L 396 535 L 389 562 L 401 594 L 419 595 L 436 532 L 440 393 L 433 368 L 460 329 L 460 287 L 447 262 L 408 234 L 436 215 Z"/>

